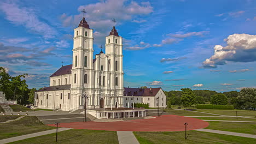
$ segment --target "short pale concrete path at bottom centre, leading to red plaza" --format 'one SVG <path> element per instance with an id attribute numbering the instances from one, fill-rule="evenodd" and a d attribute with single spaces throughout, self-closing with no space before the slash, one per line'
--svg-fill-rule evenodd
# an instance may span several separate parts
<path id="1" fill-rule="evenodd" d="M 132 131 L 117 131 L 119 144 L 139 144 Z"/>

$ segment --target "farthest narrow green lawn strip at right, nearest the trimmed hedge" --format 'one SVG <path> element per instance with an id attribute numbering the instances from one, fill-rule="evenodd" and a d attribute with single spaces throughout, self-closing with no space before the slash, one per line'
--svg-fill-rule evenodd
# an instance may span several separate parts
<path id="1" fill-rule="evenodd" d="M 256 111 L 248 110 L 197 110 L 201 112 L 214 113 L 218 115 L 236 116 L 236 111 L 238 116 L 256 116 Z"/>

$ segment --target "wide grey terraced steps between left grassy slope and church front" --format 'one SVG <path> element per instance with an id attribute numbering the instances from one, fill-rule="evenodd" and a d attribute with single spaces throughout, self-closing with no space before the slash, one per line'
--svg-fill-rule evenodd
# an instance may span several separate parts
<path id="1" fill-rule="evenodd" d="M 48 116 L 37 116 L 43 124 L 54 124 L 59 123 L 72 123 L 72 122 L 83 122 L 83 114 L 66 114 L 66 115 L 48 115 Z M 91 121 L 90 118 L 86 118 L 87 122 Z"/>

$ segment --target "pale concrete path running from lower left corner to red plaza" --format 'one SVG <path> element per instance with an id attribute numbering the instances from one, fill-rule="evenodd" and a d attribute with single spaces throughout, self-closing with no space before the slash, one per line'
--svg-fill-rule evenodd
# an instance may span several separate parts
<path id="1" fill-rule="evenodd" d="M 69 129 L 71 129 L 71 128 L 59 128 L 58 132 L 59 131 L 64 131 L 64 130 L 69 130 Z M 8 138 L 8 139 L 0 140 L 0 143 L 9 143 L 9 142 L 24 140 L 24 139 L 28 139 L 28 138 L 31 138 L 31 137 L 47 135 L 47 134 L 52 134 L 52 133 L 56 133 L 56 129 L 41 131 L 41 132 L 33 133 L 33 134 L 27 134 L 27 135 L 11 137 L 11 138 Z"/>

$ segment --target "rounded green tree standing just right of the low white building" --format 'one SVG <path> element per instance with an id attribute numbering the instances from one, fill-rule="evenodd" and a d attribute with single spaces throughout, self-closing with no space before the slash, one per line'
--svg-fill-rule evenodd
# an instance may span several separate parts
<path id="1" fill-rule="evenodd" d="M 196 95 L 190 88 L 182 88 L 182 105 L 188 107 L 197 104 Z"/>

